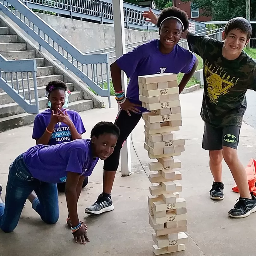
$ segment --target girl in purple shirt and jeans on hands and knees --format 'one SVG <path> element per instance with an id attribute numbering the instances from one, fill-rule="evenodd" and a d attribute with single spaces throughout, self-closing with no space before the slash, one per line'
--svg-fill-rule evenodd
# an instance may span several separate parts
<path id="1" fill-rule="evenodd" d="M 99 159 L 105 160 L 113 153 L 118 137 L 116 125 L 100 122 L 92 129 L 91 139 L 52 146 L 39 144 L 16 157 L 9 167 L 5 204 L 1 197 L 3 186 L 0 185 L 0 228 L 3 232 L 15 229 L 27 198 L 45 223 L 56 223 L 59 217 L 56 183 L 66 182 L 72 234 L 76 242 L 88 242 L 87 226 L 79 221 L 77 214 L 82 183 L 92 174 Z M 32 191 L 38 197 L 31 197 Z"/>

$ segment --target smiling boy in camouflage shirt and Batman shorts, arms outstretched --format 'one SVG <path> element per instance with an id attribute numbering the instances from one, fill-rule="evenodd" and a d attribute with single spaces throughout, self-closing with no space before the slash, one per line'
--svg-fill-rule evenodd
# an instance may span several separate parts
<path id="1" fill-rule="evenodd" d="M 150 10 L 143 16 L 156 23 Z M 224 198 L 222 160 L 229 166 L 240 192 L 235 207 L 228 215 L 243 218 L 256 211 L 256 198 L 249 191 L 245 168 L 237 155 L 243 115 L 247 108 L 247 89 L 256 91 L 256 63 L 244 51 L 252 35 L 252 26 L 244 18 L 231 19 L 222 39 L 199 36 L 186 30 L 189 49 L 204 62 L 204 96 L 201 117 L 204 120 L 202 148 L 209 150 L 210 170 L 214 178 L 210 198 Z"/>

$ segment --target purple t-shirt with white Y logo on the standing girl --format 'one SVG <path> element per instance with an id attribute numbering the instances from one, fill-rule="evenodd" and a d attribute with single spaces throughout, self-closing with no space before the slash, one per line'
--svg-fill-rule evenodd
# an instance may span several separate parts
<path id="1" fill-rule="evenodd" d="M 119 68 L 130 78 L 126 97 L 132 103 L 141 104 L 138 76 L 162 73 L 188 74 L 195 64 L 196 56 L 190 51 L 175 45 L 172 52 L 163 54 L 159 50 L 159 42 L 159 39 L 150 40 L 116 60 Z M 147 112 L 143 107 L 140 110 L 141 112 Z"/>

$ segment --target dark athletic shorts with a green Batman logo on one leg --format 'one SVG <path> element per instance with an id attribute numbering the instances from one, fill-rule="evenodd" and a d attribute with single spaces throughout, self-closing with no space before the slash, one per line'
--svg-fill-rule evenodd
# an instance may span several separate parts
<path id="1" fill-rule="evenodd" d="M 239 142 L 240 126 L 226 126 L 215 128 L 204 123 L 204 136 L 202 148 L 205 150 L 220 150 L 222 146 L 237 149 Z"/>

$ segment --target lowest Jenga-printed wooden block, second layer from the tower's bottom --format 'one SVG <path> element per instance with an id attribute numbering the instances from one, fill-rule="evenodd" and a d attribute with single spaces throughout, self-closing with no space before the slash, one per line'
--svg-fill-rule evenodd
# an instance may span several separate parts
<path id="1" fill-rule="evenodd" d="M 174 234 L 170 234 L 172 236 Z M 174 247 L 179 244 L 184 244 L 188 240 L 188 236 L 184 232 L 177 233 L 177 238 L 168 239 L 165 235 L 154 236 L 153 240 L 158 247 Z"/>

